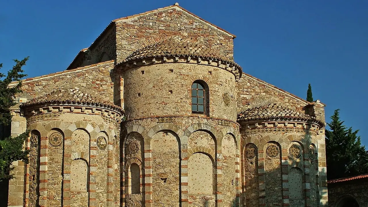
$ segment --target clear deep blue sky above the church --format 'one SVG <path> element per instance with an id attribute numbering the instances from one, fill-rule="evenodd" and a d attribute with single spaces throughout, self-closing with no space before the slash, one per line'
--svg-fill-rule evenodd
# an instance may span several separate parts
<path id="1" fill-rule="evenodd" d="M 30 56 L 28 77 L 63 71 L 113 19 L 175 2 L 2 1 L 0 63 L 9 69 L 13 59 Z M 327 104 L 326 120 L 340 108 L 368 145 L 368 1 L 178 3 L 237 36 L 234 59 L 244 72 L 304 99 L 311 83 L 313 98 Z"/>

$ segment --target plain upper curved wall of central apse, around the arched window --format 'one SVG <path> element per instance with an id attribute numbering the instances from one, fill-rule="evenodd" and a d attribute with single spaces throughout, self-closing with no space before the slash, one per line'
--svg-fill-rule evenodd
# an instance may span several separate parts
<path id="1" fill-rule="evenodd" d="M 198 117 L 199 114 L 191 111 L 191 86 L 199 79 L 209 87 L 209 116 L 236 120 L 235 78 L 222 68 L 186 63 L 153 64 L 130 69 L 124 72 L 123 78 L 124 108 L 128 119 Z"/>

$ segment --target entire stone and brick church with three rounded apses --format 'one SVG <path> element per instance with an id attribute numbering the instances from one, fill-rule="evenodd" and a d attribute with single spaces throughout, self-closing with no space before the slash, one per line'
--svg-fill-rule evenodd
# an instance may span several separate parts
<path id="1" fill-rule="evenodd" d="M 175 4 L 25 79 L 8 206 L 326 206 L 324 105 L 245 74 L 234 38 Z"/>

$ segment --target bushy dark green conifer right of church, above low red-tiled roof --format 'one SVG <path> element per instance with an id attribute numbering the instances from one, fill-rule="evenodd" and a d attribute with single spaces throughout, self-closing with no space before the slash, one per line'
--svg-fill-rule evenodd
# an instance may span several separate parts
<path id="1" fill-rule="evenodd" d="M 326 129 L 326 162 L 328 179 L 368 173 L 368 151 L 361 146 L 359 130 L 347 128 L 340 120 L 339 109 L 331 116 Z"/>

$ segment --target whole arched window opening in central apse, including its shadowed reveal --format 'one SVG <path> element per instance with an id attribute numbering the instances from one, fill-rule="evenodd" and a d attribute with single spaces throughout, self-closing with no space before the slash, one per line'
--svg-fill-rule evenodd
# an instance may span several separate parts
<path id="1" fill-rule="evenodd" d="M 209 115 L 208 86 L 203 81 L 192 84 L 192 113 Z"/>

